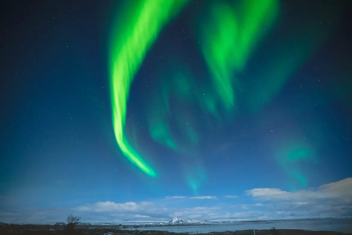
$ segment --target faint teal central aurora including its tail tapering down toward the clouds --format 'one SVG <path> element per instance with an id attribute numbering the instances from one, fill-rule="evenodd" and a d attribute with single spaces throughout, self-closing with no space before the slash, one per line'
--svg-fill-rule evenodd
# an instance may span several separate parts
<path id="1" fill-rule="evenodd" d="M 206 182 L 206 170 L 197 152 L 199 126 L 193 112 L 202 91 L 197 85 L 188 63 L 173 58 L 160 72 L 161 92 L 151 93 L 147 99 L 147 123 L 152 139 L 178 154 L 183 177 L 197 195 L 201 184 Z M 159 90 L 160 91 L 160 90 Z M 201 93 L 203 96 L 203 93 Z M 205 105 L 205 104 L 204 104 Z"/>

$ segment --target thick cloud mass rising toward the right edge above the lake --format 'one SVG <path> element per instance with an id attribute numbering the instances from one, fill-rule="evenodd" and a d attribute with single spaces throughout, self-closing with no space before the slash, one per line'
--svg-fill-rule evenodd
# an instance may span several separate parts
<path id="1" fill-rule="evenodd" d="M 295 192 L 278 188 L 246 191 L 254 199 L 268 201 L 266 208 L 294 217 L 352 216 L 352 178 Z"/>

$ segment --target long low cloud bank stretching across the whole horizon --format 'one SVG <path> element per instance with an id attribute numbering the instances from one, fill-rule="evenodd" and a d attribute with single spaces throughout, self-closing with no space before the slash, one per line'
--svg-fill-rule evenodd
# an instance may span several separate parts
<path id="1" fill-rule="evenodd" d="M 249 197 L 243 197 L 241 201 L 246 204 L 237 205 L 226 204 L 226 200 L 224 200 L 225 202 L 220 200 L 186 200 L 186 203 L 179 203 L 180 200 L 161 198 L 153 200 L 153 202 L 103 201 L 65 210 L 16 211 L 3 208 L 0 210 L 0 221 L 6 223 L 55 223 L 64 222 L 69 214 L 80 215 L 82 222 L 118 224 L 167 222 L 176 216 L 210 221 L 352 216 L 352 178 L 295 192 L 287 192 L 278 188 L 254 188 L 245 191 L 245 193 Z M 166 198 L 217 199 L 214 196 L 172 196 Z M 258 202 L 258 200 L 260 201 Z M 266 203 L 263 203 L 264 201 Z"/>

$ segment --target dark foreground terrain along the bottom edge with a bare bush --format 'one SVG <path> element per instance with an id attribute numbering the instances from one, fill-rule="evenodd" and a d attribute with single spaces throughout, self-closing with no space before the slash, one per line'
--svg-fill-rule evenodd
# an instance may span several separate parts
<path id="1" fill-rule="evenodd" d="M 190 233 L 170 233 L 168 231 L 139 231 L 139 230 L 121 230 L 107 225 L 81 225 L 76 226 L 74 230 L 65 230 L 63 225 L 0 225 L 0 235 L 10 234 L 38 234 L 38 235 L 189 235 Z M 191 233 L 193 234 L 193 233 Z M 201 234 L 201 233 L 199 233 Z M 252 235 L 253 230 L 212 232 L 207 235 Z M 256 230 L 256 235 L 339 235 L 344 233 L 332 231 L 307 231 L 295 229 L 270 229 Z M 344 235 L 352 235 L 344 234 Z"/>

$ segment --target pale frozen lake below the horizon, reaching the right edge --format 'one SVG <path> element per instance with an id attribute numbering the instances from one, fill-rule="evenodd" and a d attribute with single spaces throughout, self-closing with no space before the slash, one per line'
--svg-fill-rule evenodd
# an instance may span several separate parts
<path id="1" fill-rule="evenodd" d="M 352 233 L 352 219 L 297 219 L 285 221 L 216 223 L 206 225 L 172 225 L 160 227 L 138 228 L 138 230 L 162 230 L 170 232 L 209 233 L 211 231 L 236 231 L 247 229 L 303 229 L 314 231 L 340 231 Z"/>

